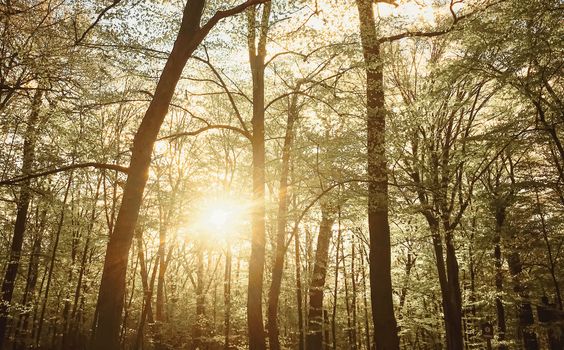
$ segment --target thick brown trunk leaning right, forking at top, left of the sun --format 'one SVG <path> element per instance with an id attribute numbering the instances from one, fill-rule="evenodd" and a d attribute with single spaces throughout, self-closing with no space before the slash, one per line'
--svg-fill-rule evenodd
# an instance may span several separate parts
<path id="1" fill-rule="evenodd" d="M 230 10 L 217 12 L 202 27 L 200 27 L 200 21 L 205 1 L 191 0 L 184 7 L 176 41 L 133 140 L 127 181 L 115 226 L 108 242 L 100 283 L 97 327 L 94 335 L 94 348 L 96 349 L 117 350 L 119 348 L 129 250 L 149 175 L 153 145 L 167 115 L 182 70 L 188 58 L 220 19 L 239 13 L 256 2 L 258 1 L 249 0 Z"/>

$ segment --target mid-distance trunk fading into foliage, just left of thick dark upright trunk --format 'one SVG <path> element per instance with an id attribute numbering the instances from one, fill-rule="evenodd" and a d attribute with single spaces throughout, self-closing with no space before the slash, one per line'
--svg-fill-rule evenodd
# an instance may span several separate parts
<path id="1" fill-rule="evenodd" d="M 329 244 L 331 243 L 332 226 L 335 218 L 331 209 L 322 205 L 321 224 L 317 236 L 315 264 L 309 285 L 308 333 L 307 349 L 321 349 L 323 341 L 323 291 L 327 275 Z"/>

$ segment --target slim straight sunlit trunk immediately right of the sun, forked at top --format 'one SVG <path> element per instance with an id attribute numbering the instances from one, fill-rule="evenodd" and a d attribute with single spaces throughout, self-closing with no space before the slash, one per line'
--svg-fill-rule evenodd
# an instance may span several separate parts
<path id="1" fill-rule="evenodd" d="M 270 3 L 264 4 L 261 22 L 256 23 L 255 7 L 247 12 L 248 49 L 253 78 L 253 210 L 251 215 L 252 237 L 249 261 L 249 282 L 247 289 L 247 326 L 249 349 L 266 349 L 264 324 L 262 320 L 262 289 L 265 262 L 265 145 L 264 145 L 264 60 L 266 56 L 266 35 L 269 26 Z M 258 43 L 256 32 L 259 30 Z"/>

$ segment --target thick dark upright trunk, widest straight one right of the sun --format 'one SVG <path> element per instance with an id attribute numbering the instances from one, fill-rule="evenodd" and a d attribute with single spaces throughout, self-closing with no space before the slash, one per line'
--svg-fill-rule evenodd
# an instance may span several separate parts
<path id="1" fill-rule="evenodd" d="M 399 349 L 391 277 L 390 226 L 388 223 L 388 173 L 386 112 L 380 43 L 371 0 L 356 0 L 366 70 L 368 125 L 368 228 L 370 232 L 370 300 L 374 345 L 378 350 Z"/>

